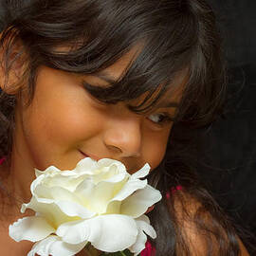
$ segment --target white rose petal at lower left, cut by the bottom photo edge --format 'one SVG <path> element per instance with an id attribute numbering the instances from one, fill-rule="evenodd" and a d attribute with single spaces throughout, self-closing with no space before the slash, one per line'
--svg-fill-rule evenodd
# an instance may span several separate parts
<path id="1" fill-rule="evenodd" d="M 27 256 L 73 256 L 85 247 L 86 242 L 77 245 L 66 244 L 58 236 L 52 235 L 36 243 Z"/>

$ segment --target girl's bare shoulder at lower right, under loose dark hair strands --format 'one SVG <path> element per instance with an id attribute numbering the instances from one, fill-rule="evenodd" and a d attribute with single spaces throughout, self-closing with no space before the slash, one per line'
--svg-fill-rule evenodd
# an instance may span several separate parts
<path id="1" fill-rule="evenodd" d="M 166 197 L 170 199 L 167 201 L 176 226 L 177 255 L 187 255 L 188 250 L 190 256 L 228 255 L 222 254 L 221 244 L 229 244 L 229 231 L 214 212 L 212 214 L 191 192 L 181 186 L 171 188 Z M 241 250 L 240 256 L 248 256 L 247 249 L 238 236 L 234 237 L 234 240 Z M 184 250 L 184 243 L 188 250 Z"/>

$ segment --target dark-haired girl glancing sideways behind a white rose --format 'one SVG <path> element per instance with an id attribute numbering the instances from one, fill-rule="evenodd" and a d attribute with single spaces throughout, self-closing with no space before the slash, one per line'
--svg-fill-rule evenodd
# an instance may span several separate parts
<path id="1" fill-rule="evenodd" d="M 156 255 L 247 255 L 196 184 L 185 142 L 176 142 L 184 128 L 209 125 L 223 103 L 210 7 L 203 0 L 7 2 L 2 254 L 26 255 L 31 247 L 11 241 L 7 227 L 30 198 L 34 168 L 72 169 L 89 156 L 118 159 L 130 173 L 151 165 L 151 183 L 166 194 L 150 212 Z"/>

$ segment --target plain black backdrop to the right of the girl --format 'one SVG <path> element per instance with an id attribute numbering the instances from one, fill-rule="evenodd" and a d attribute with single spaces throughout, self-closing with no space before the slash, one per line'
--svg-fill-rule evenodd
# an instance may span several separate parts
<path id="1" fill-rule="evenodd" d="M 198 133 L 203 142 L 195 155 L 197 170 L 234 222 L 256 234 L 256 1 L 209 2 L 224 38 L 229 101 L 225 118 Z M 244 238 L 244 243 L 250 240 L 256 245 L 252 239 Z"/>

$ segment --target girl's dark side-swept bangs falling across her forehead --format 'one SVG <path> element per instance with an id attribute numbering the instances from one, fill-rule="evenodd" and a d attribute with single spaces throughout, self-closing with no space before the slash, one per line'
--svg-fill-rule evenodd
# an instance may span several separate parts
<path id="1" fill-rule="evenodd" d="M 132 101 L 146 95 L 143 101 L 130 108 L 137 113 L 147 112 L 156 107 L 170 87 L 178 86 L 173 81 L 180 71 L 192 69 L 197 26 L 189 11 L 182 13 L 168 4 L 159 4 L 158 8 L 151 8 L 148 13 L 144 10 L 143 14 L 139 13 L 139 4 L 133 9 L 129 7 L 129 13 L 125 13 L 125 5 L 119 7 L 114 24 L 113 17 L 110 18 L 105 10 L 101 18 L 92 18 L 92 31 L 85 31 L 83 38 L 77 34 L 74 35 L 77 40 L 62 43 L 71 46 L 68 51 L 41 52 L 44 53 L 44 64 L 49 67 L 91 75 L 115 64 L 137 47 L 136 57 L 118 81 L 104 87 L 87 83 L 83 86 L 93 97 L 108 103 Z M 163 15 L 170 11 L 174 15 Z M 129 29 L 132 25 L 134 28 Z"/>

